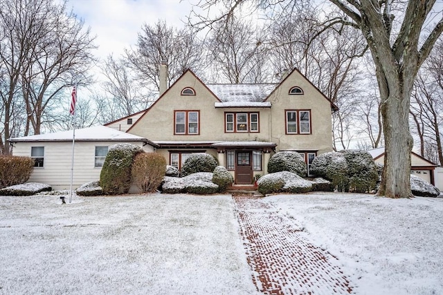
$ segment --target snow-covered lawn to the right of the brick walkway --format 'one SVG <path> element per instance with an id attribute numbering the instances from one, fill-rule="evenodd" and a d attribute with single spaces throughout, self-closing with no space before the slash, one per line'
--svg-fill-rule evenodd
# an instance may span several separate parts
<path id="1" fill-rule="evenodd" d="M 311 193 L 267 198 L 343 262 L 356 294 L 443 294 L 443 200 Z"/>

